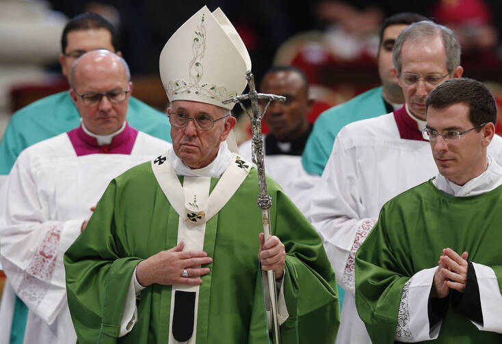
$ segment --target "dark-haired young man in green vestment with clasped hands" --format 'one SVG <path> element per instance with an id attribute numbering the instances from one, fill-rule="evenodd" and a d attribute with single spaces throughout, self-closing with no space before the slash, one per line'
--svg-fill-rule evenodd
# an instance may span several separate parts
<path id="1" fill-rule="evenodd" d="M 427 96 L 436 178 L 387 202 L 356 254 L 356 306 L 373 343 L 501 343 L 502 168 L 487 155 L 488 89 L 451 79 Z"/>

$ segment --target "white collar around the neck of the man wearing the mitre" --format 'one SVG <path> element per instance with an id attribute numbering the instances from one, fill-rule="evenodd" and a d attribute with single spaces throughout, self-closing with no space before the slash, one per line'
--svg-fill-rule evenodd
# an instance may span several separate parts
<path id="1" fill-rule="evenodd" d="M 228 168 L 232 152 L 228 149 L 226 141 L 220 142 L 220 148 L 215 159 L 204 168 L 189 168 L 183 161 L 174 153 L 174 149 L 169 148 L 168 159 L 171 163 L 174 172 L 179 176 L 209 176 L 220 178 L 223 172 Z"/>

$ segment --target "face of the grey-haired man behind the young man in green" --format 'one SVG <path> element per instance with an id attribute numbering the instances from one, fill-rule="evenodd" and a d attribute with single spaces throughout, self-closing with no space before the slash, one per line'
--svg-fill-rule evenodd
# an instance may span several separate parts
<path id="1" fill-rule="evenodd" d="M 394 69 L 395 70 L 395 69 Z M 395 70 L 397 75 L 397 71 Z M 427 75 L 445 76 L 442 81 L 451 77 L 461 77 L 462 67 L 457 66 L 455 70 L 448 73 L 446 67 L 445 46 L 442 38 L 424 38 L 419 42 L 406 40 L 401 49 L 401 75 L 413 73 L 421 77 L 419 81 L 412 85 L 407 85 L 398 79 L 399 85 L 403 89 L 404 99 L 408 109 L 415 117 L 425 120 L 425 98 L 436 87 L 425 82 L 423 77 Z"/>

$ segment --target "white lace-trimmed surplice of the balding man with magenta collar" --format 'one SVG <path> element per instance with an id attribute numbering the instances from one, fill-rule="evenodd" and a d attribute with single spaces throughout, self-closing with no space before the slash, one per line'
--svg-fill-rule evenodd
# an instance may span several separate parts
<path id="1" fill-rule="evenodd" d="M 63 133 L 23 150 L 0 190 L 1 262 L 29 308 L 24 343 L 75 343 L 66 302 L 63 254 L 81 233 L 109 181 L 163 153 L 170 144 L 137 133 L 130 155 L 77 156 Z M 3 298 L 15 297 L 14 293 Z M 12 302 L 11 302 L 12 303 Z M 0 323 L 12 322 L 3 305 Z M 2 328 L 0 342 L 10 334 Z M 8 338 L 6 339 L 8 343 Z"/>

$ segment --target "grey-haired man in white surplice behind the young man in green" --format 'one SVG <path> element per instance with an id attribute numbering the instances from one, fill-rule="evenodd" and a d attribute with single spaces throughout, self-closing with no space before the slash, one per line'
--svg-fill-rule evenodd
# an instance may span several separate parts
<path id="1" fill-rule="evenodd" d="M 438 172 L 421 133 L 425 98 L 442 81 L 462 75 L 460 43 L 447 27 L 413 23 L 397 36 L 393 65 L 405 105 L 343 127 L 308 212 L 345 289 L 337 343 L 371 343 L 356 311 L 354 258 L 385 202 Z M 501 137 L 491 140 L 488 152 L 502 162 Z"/>

